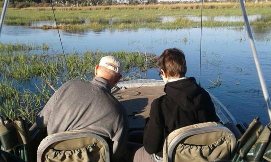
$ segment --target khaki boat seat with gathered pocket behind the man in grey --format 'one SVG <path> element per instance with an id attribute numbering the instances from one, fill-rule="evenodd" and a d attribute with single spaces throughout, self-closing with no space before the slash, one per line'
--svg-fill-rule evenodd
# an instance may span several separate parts
<path id="1" fill-rule="evenodd" d="M 37 161 L 109 162 L 109 146 L 105 139 L 88 130 L 59 132 L 41 141 Z"/>

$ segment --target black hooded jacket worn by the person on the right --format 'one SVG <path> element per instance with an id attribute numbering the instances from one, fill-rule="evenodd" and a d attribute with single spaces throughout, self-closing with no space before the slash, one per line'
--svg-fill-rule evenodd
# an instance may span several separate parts
<path id="1" fill-rule="evenodd" d="M 165 138 L 180 127 L 218 121 L 210 95 L 194 77 L 168 82 L 163 95 L 151 105 L 150 120 L 144 129 L 144 147 L 148 153 L 163 157 Z"/>

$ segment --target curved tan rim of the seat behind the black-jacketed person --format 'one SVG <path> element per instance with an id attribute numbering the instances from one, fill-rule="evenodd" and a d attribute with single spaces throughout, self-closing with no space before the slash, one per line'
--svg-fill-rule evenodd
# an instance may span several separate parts
<path id="1" fill-rule="evenodd" d="M 176 137 L 173 138 L 173 140 L 170 142 L 169 146 L 167 147 L 167 162 L 172 162 L 174 154 L 175 154 L 175 148 L 178 146 L 181 140 L 184 138 L 195 135 L 195 134 L 201 134 L 201 133 L 207 133 L 207 132 L 213 132 L 213 131 L 224 131 L 227 132 L 230 135 L 230 138 L 233 139 L 231 140 L 231 153 L 233 153 L 234 148 L 236 146 L 236 138 L 234 134 L 225 126 L 223 125 L 215 125 L 215 126 L 205 126 L 205 127 L 200 127 L 200 128 L 192 128 L 187 131 L 181 132 L 178 134 Z M 234 140 L 235 139 L 235 140 Z"/>

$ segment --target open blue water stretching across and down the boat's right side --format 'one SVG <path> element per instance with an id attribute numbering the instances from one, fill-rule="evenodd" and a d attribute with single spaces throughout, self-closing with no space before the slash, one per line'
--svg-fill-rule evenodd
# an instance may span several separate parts
<path id="1" fill-rule="evenodd" d="M 45 24 L 47 22 L 39 22 Z M 243 28 L 203 28 L 201 85 L 213 93 L 237 121 L 250 122 L 256 115 L 269 121 L 246 32 Z M 252 28 L 265 81 L 271 92 L 271 29 Z M 65 52 L 76 50 L 147 51 L 160 55 L 164 49 L 178 47 L 187 58 L 188 76 L 199 81 L 200 28 L 178 30 L 135 29 L 66 32 L 60 30 Z M 50 52 L 61 51 L 57 30 L 32 29 L 25 26 L 4 26 L 1 41 L 47 43 Z M 160 79 L 159 69 L 149 69 L 142 76 Z M 211 81 L 221 79 L 212 87 Z M 211 81 L 209 81 L 211 80 Z"/>

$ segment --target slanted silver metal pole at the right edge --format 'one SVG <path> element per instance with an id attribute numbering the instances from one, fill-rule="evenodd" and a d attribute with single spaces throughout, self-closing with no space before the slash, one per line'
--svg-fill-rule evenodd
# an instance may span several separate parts
<path id="1" fill-rule="evenodd" d="M 249 40 L 249 43 L 250 43 L 250 47 L 251 47 L 251 50 L 252 50 L 252 54 L 253 54 L 253 57 L 254 57 L 256 69 L 257 69 L 257 72 L 258 72 L 258 77 L 259 77 L 262 93 L 263 93 L 264 100 L 265 100 L 266 105 L 267 105 L 267 111 L 268 111 L 268 114 L 269 114 L 269 118 L 271 120 L 271 102 L 270 102 L 270 98 L 269 98 L 269 94 L 268 94 L 268 89 L 267 89 L 265 81 L 264 81 L 264 76 L 262 75 L 262 72 L 261 72 L 261 67 L 260 67 L 260 64 L 259 64 L 254 39 L 253 39 L 252 32 L 251 32 L 251 29 L 250 29 L 247 14 L 246 14 L 246 11 L 245 11 L 244 2 L 243 2 L 243 0 L 239 0 L 239 1 L 240 1 L 240 6 L 242 8 L 243 16 L 244 16 L 245 28 L 246 28 L 248 40 Z"/>

